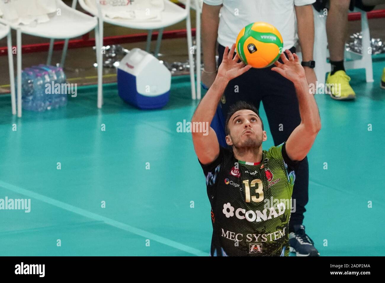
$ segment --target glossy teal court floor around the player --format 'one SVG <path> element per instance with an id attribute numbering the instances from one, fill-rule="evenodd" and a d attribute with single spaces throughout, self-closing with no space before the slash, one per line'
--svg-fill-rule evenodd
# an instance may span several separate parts
<path id="1" fill-rule="evenodd" d="M 322 129 L 308 155 L 304 224 L 321 256 L 385 255 L 385 57 L 373 60 L 374 83 L 348 72 L 355 101 L 316 95 Z M 115 84 L 104 86 L 103 109 L 88 87 L 63 109 L 21 119 L 2 95 L 0 198 L 31 203 L 29 213 L 0 210 L 0 256 L 207 256 L 205 178 L 191 134 L 176 131 L 197 105 L 188 77 L 172 79 L 169 104 L 156 111 L 125 104 Z"/>

